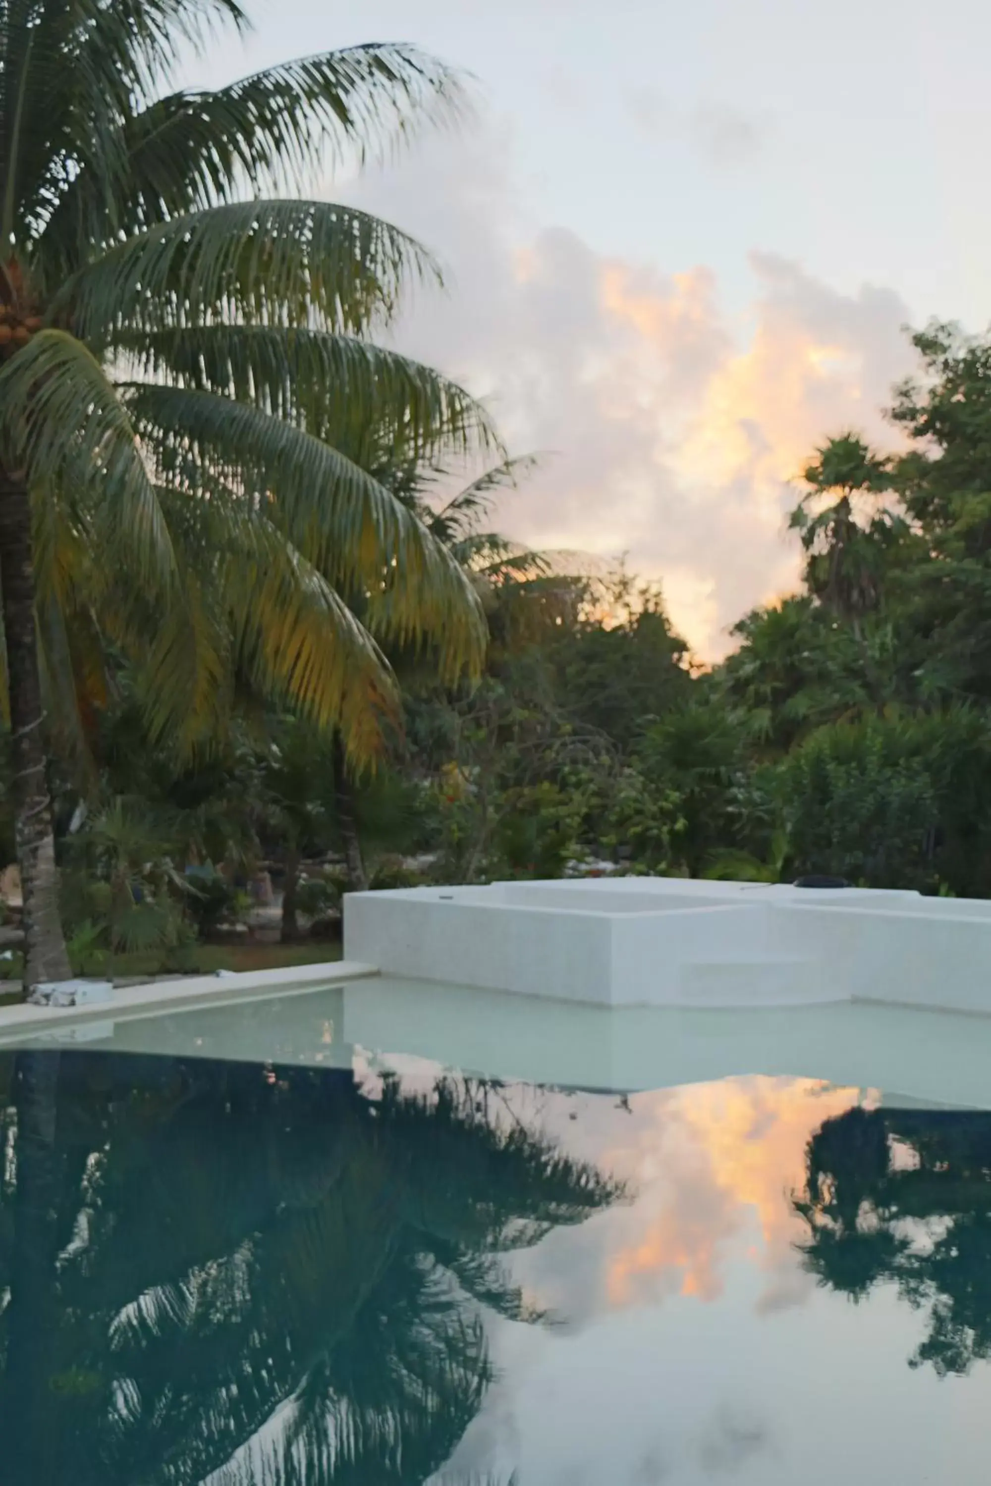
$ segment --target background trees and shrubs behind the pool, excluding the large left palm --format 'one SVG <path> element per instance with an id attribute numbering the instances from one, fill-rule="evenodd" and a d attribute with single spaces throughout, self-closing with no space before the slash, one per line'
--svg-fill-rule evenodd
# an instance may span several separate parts
<path id="1" fill-rule="evenodd" d="M 716 667 L 692 664 L 655 587 L 492 529 L 524 464 L 441 499 L 440 458 L 380 455 L 376 481 L 462 572 L 487 651 L 458 682 L 435 642 L 388 642 L 401 716 L 374 770 L 272 692 L 183 749 L 155 727 L 144 657 L 107 646 L 89 773 L 49 733 L 74 960 L 157 948 L 178 964 L 244 918 L 261 865 L 287 887 L 285 939 L 333 935 L 342 892 L 368 883 L 829 872 L 988 895 L 991 342 L 932 327 L 915 346 L 900 449 L 823 443 L 796 492 L 802 587 L 746 615 Z M 7 857 L 12 825 L 9 808 Z"/>

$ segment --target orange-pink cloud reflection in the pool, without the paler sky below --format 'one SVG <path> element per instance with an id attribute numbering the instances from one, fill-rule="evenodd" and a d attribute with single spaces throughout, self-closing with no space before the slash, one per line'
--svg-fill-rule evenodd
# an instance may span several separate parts
<path id="1" fill-rule="evenodd" d="M 764 1275 L 762 1311 L 813 1285 L 793 1251 L 789 1193 L 805 1146 L 857 1089 L 813 1079 L 744 1077 L 633 1095 L 630 1113 L 578 1097 L 556 1134 L 630 1184 L 631 1201 L 520 1256 L 524 1284 L 566 1327 L 672 1294 L 716 1300 L 727 1266 Z M 557 1123 L 557 1122 L 556 1122 Z"/>

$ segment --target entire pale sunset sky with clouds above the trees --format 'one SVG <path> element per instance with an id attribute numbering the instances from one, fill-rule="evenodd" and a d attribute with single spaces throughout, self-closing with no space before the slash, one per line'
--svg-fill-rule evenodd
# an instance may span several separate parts
<path id="1" fill-rule="evenodd" d="M 215 85 L 413 42 L 475 113 L 319 193 L 416 233 L 446 290 L 401 349 L 541 462 L 495 513 L 626 554 L 703 660 L 798 583 L 786 516 L 817 443 L 912 372 L 906 325 L 991 321 L 991 10 L 976 0 L 315 0 L 190 59 Z"/>

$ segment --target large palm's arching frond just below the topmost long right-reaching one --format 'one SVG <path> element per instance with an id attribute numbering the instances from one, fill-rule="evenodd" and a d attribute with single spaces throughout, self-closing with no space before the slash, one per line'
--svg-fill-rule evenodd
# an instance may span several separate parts
<path id="1" fill-rule="evenodd" d="M 111 247 L 55 296 L 51 318 L 107 345 L 114 331 L 217 318 L 363 331 L 407 281 L 440 270 L 413 238 L 321 201 L 250 201 L 160 223 Z"/>

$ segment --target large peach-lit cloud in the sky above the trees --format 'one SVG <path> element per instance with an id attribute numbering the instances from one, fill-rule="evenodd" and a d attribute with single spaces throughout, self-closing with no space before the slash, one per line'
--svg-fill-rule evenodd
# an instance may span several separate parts
<path id="1" fill-rule="evenodd" d="M 731 317 L 704 265 L 636 263 L 524 210 L 507 131 L 432 140 L 351 184 L 450 266 L 419 294 L 403 349 L 486 395 L 514 452 L 548 452 L 498 508 L 527 544 L 627 553 L 660 577 L 704 658 L 753 605 L 792 588 L 789 489 L 805 455 L 880 409 L 911 366 L 890 290 L 841 293 L 768 253 Z"/>

